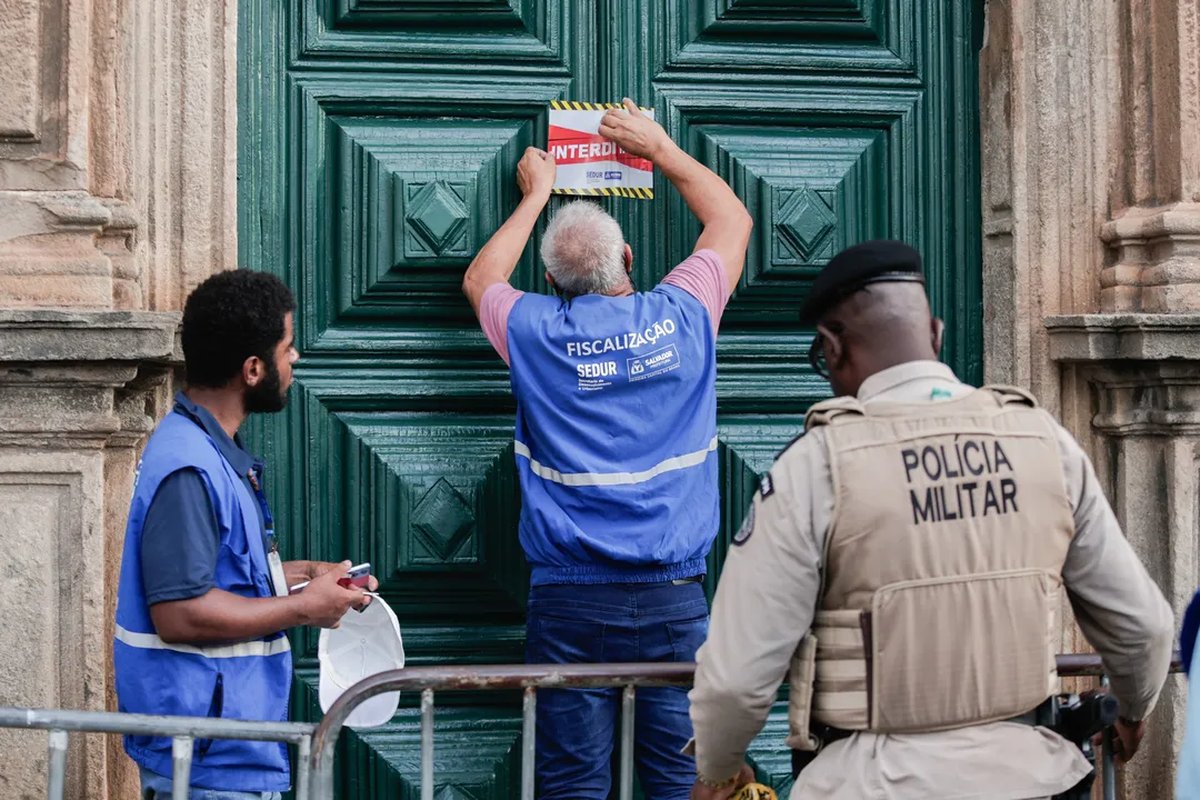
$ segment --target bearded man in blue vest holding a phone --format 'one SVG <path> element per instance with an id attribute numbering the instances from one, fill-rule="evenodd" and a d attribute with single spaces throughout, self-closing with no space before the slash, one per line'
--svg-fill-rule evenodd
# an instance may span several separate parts
<path id="1" fill-rule="evenodd" d="M 250 414 L 287 403 L 294 308 L 278 278 L 245 270 L 215 275 L 187 299 L 186 386 L 146 443 L 125 530 L 113 643 L 121 711 L 287 720 L 284 631 L 336 627 L 370 602 L 337 584 L 349 561 L 280 560 L 263 462 L 238 437 Z M 126 736 L 125 751 L 144 800 L 172 795 L 170 739 Z M 289 783 L 280 742 L 196 742 L 193 798 L 278 798 Z"/>

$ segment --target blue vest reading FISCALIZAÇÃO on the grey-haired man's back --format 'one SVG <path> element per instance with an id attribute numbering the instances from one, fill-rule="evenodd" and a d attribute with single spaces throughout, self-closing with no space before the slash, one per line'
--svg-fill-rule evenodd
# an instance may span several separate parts
<path id="1" fill-rule="evenodd" d="M 570 302 L 524 294 L 508 343 L 533 584 L 704 573 L 720 512 L 704 306 L 668 284 Z"/>

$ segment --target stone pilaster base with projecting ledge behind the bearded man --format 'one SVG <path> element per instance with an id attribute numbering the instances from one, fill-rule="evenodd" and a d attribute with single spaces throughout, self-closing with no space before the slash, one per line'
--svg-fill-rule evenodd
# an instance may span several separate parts
<path id="1" fill-rule="evenodd" d="M 103 710 L 137 447 L 169 399 L 178 314 L 0 311 L 0 705 Z M 19 643 L 19 646 L 17 645 Z M 5 790 L 44 738 L 0 730 Z M 72 736 L 70 796 L 137 796 L 120 740 Z"/>

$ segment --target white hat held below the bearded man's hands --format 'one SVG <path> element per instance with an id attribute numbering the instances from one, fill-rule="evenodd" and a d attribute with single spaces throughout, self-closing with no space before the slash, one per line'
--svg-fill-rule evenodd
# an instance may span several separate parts
<path id="1" fill-rule="evenodd" d="M 336 628 L 323 628 L 317 643 L 320 660 L 320 710 L 329 711 L 334 702 L 364 678 L 402 669 L 404 643 L 400 638 L 396 614 L 378 595 L 361 613 L 350 609 Z M 377 694 L 364 700 L 346 724 L 374 728 L 391 720 L 400 705 L 400 692 Z"/>

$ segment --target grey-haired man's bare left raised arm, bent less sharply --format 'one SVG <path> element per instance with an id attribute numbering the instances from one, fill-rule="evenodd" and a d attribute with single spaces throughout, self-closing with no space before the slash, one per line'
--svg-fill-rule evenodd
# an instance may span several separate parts
<path id="1" fill-rule="evenodd" d="M 470 300 L 475 315 L 479 315 L 479 303 L 487 288 L 496 283 L 508 283 L 521 260 L 538 216 L 550 201 L 556 169 L 554 157 L 548 152 L 538 148 L 526 149 L 517 164 L 517 185 L 524 197 L 508 222 L 479 251 L 462 278 L 463 294 Z"/>

